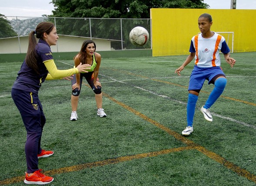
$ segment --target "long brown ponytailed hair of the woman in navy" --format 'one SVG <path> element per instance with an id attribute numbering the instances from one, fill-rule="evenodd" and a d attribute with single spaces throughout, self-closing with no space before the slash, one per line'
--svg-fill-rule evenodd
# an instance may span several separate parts
<path id="1" fill-rule="evenodd" d="M 35 38 L 35 34 L 37 38 L 43 39 L 43 34 L 44 33 L 50 34 L 53 28 L 54 28 L 54 25 L 51 22 L 40 22 L 37 25 L 37 28 L 30 32 L 27 55 L 25 60 L 26 60 L 27 66 L 29 66 L 34 71 L 36 71 L 37 74 L 39 74 L 39 69 L 37 66 L 38 56 L 36 51 L 37 40 Z"/>

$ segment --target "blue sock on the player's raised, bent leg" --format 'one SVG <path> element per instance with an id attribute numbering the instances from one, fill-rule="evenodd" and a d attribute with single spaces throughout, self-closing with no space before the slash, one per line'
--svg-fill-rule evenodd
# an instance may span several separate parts
<path id="1" fill-rule="evenodd" d="M 213 103 L 216 102 L 219 96 L 223 93 L 226 83 L 227 83 L 227 80 L 226 78 L 223 78 L 223 77 L 215 81 L 214 83 L 215 87 L 213 91 L 210 93 L 209 98 L 207 99 L 203 108 L 209 109 L 213 105 Z"/>

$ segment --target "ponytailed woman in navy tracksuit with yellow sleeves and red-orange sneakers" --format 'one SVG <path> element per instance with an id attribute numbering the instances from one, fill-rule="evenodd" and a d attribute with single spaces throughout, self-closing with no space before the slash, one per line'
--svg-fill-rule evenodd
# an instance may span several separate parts
<path id="1" fill-rule="evenodd" d="M 37 42 L 36 37 L 39 39 Z M 27 130 L 25 154 L 27 173 L 24 183 L 46 184 L 53 181 L 53 177 L 45 176 L 38 168 L 38 158 L 49 157 L 53 151 L 45 151 L 40 147 L 43 126 L 46 122 L 43 108 L 38 98 L 38 91 L 44 80 L 72 79 L 73 74 L 87 72 L 89 64 L 78 64 L 76 68 L 58 70 L 54 61 L 51 45 L 56 45 L 58 35 L 55 26 L 50 22 L 41 22 L 30 32 L 26 58 L 21 65 L 11 95 L 20 111 Z"/>

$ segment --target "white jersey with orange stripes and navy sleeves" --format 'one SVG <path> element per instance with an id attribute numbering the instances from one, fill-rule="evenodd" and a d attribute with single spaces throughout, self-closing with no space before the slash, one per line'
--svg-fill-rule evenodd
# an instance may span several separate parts
<path id="1" fill-rule="evenodd" d="M 195 52 L 195 64 L 198 67 L 219 67 L 219 51 L 223 54 L 230 52 L 225 38 L 214 33 L 211 38 L 203 38 L 202 34 L 193 36 L 190 52 Z"/>

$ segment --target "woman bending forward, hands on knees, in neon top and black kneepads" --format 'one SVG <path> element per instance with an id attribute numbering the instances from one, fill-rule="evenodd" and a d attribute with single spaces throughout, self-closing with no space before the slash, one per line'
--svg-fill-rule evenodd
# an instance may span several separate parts
<path id="1" fill-rule="evenodd" d="M 76 121 L 77 117 L 77 106 L 78 99 L 81 91 L 82 80 L 85 77 L 86 81 L 92 88 L 95 93 L 96 105 L 97 105 L 97 115 L 100 117 L 106 117 L 106 113 L 102 108 L 102 92 L 101 92 L 101 84 L 98 79 L 101 56 L 99 53 L 95 52 L 96 45 L 92 40 L 86 40 L 83 42 L 80 52 L 74 57 L 75 67 L 82 64 L 90 64 L 91 68 L 88 73 L 77 73 L 76 78 L 71 80 L 72 83 L 72 95 L 71 95 L 71 121 Z"/>

